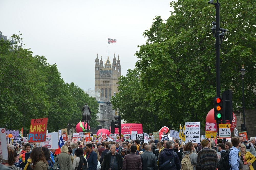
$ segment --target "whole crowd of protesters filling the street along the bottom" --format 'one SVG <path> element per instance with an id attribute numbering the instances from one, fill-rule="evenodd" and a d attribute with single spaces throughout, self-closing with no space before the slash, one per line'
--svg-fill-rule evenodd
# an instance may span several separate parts
<path id="1" fill-rule="evenodd" d="M 200 143 L 181 143 L 179 140 L 151 140 L 140 144 L 114 141 L 70 142 L 61 147 L 61 153 L 55 155 L 55 149 L 35 147 L 32 143 L 24 143 L 21 147 L 8 145 L 8 160 L 0 155 L 1 169 L 14 170 L 47 170 L 58 163 L 61 170 L 167 170 L 193 169 L 216 170 L 217 163 L 230 150 L 229 166 L 232 170 L 253 170 L 256 163 L 256 141 L 244 141 L 243 137 L 233 137 L 231 142 L 219 143 L 203 139 Z M 220 159 L 217 153 L 221 154 Z"/>

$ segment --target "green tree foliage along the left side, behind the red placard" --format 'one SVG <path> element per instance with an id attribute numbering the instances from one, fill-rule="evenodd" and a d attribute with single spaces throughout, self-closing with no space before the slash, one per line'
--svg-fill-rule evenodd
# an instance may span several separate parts
<path id="1" fill-rule="evenodd" d="M 20 34 L 22 35 L 22 34 Z M 69 123 L 74 127 L 82 119 L 82 107 L 92 110 L 90 126 L 98 125 L 99 104 L 74 83 L 61 78 L 56 64 L 44 56 L 32 56 L 22 46 L 20 35 L 16 45 L 0 40 L 0 127 L 29 132 L 31 119 L 48 117 L 47 130 L 57 132 Z"/>

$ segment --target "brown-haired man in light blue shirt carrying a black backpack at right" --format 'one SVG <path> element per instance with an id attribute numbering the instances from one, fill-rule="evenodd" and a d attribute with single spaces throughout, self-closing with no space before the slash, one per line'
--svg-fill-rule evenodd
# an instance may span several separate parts
<path id="1" fill-rule="evenodd" d="M 238 156 L 238 152 L 239 152 L 239 147 L 241 147 L 241 142 L 240 142 L 240 138 L 238 136 L 236 137 L 232 137 L 231 138 L 231 143 L 232 143 L 232 148 L 233 150 L 231 150 L 229 152 L 229 165 L 231 165 L 232 170 L 239 170 L 239 156 Z"/>

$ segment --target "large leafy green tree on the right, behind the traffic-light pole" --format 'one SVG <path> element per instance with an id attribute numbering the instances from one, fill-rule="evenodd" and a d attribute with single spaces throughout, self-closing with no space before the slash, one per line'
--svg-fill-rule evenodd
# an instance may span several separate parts
<path id="1" fill-rule="evenodd" d="M 244 64 L 248 70 L 245 103 L 246 108 L 251 108 L 255 101 L 256 1 L 220 3 L 220 26 L 229 30 L 221 45 L 221 92 L 231 89 L 234 110 L 241 109 L 239 70 Z M 136 90 L 143 90 L 143 101 L 153 108 L 151 114 L 167 119 L 175 127 L 196 121 L 196 115 L 204 126 L 216 96 L 215 38 L 210 29 L 215 21 L 215 6 L 205 0 L 172 1 L 170 6 L 174 9 L 171 16 L 166 21 L 156 16 L 143 34 L 146 44 L 140 45 L 135 54 L 139 58 L 136 76 L 140 77 Z M 129 96 L 129 88 L 123 90 Z M 124 98 L 125 95 L 120 96 L 119 100 L 125 101 Z M 115 107 L 120 108 L 120 103 Z"/>

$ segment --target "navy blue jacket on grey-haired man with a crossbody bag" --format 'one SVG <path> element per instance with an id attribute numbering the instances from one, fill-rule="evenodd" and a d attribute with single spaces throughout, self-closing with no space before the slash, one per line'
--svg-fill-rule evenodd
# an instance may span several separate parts
<path id="1" fill-rule="evenodd" d="M 160 167 L 163 163 L 165 163 L 167 160 L 172 160 L 173 159 L 173 149 L 165 149 L 163 152 L 161 152 L 161 155 L 159 155 L 159 164 L 158 167 Z M 163 170 L 170 170 L 170 169 L 176 169 L 176 170 L 180 170 L 181 169 L 181 165 L 179 162 L 179 157 L 177 154 L 174 155 L 174 164 L 171 168 L 167 168 L 168 165 L 166 166 L 166 168 L 163 168 Z"/>

